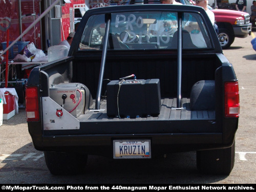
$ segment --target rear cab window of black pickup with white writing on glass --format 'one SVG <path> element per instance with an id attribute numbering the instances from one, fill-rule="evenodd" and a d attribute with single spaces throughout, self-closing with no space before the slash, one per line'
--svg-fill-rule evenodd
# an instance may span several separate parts
<path id="1" fill-rule="evenodd" d="M 183 49 L 211 48 L 202 18 L 196 13 L 182 13 Z M 102 50 L 105 15 L 89 18 L 80 40 L 79 50 Z M 177 12 L 112 13 L 108 49 L 149 50 L 177 49 Z"/>

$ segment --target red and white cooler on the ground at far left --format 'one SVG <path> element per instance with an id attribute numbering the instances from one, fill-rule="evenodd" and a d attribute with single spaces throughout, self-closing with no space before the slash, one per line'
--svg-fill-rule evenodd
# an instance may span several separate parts
<path id="1" fill-rule="evenodd" d="M 15 96 L 5 92 L 6 104 L 3 104 L 3 119 L 8 120 L 15 115 Z"/>

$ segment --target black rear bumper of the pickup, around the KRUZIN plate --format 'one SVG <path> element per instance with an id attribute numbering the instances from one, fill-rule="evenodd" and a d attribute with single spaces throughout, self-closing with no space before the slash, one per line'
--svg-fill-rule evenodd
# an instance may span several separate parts
<path id="1" fill-rule="evenodd" d="M 152 156 L 173 152 L 209 150 L 228 147 L 223 135 L 216 134 L 125 134 L 125 135 L 65 135 L 42 138 L 41 151 L 79 152 L 89 155 L 113 157 L 113 140 L 150 139 Z"/>

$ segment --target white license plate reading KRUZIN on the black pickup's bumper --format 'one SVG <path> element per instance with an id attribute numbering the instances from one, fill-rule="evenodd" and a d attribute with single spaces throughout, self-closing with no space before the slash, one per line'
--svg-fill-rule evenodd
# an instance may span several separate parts
<path id="1" fill-rule="evenodd" d="M 114 140 L 114 159 L 151 158 L 151 140 Z"/>

